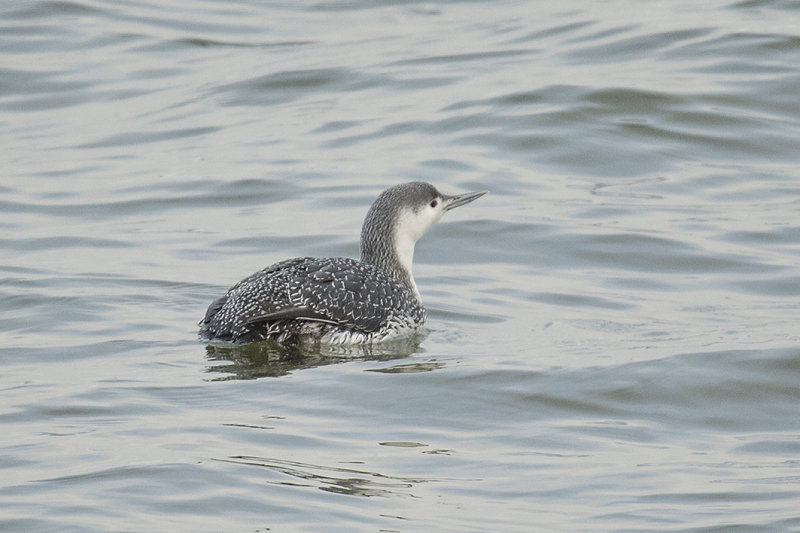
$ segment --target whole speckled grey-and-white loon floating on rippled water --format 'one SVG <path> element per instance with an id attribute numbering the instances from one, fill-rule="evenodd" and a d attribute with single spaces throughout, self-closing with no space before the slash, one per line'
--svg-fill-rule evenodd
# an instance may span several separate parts
<path id="1" fill-rule="evenodd" d="M 298 257 L 259 270 L 209 305 L 200 337 L 298 347 L 412 335 L 426 319 L 412 274 L 415 244 L 446 212 L 486 192 L 451 196 L 421 181 L 386 189 L 364 219 L 360 260 Z"/>

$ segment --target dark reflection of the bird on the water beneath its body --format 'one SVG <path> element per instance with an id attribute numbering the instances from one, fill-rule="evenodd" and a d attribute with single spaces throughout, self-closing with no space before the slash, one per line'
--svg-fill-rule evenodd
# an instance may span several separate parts
<path id="1" fill-rule="evenodd" d="M 419 351 L 423 335 L 374 345 L 311 345 L 283 347 L 271 341 L 251 344 L 212 342 L 206 345 L 209 373 L 221 374 L 213 381 L 280 377 L 295 370 L 345 361 L 390 361 Z"/>

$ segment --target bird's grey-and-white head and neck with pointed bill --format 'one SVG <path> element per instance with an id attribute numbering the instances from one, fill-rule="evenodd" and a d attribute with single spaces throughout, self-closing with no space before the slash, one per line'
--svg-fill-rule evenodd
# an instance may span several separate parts
<path id="1" fill-rule="evenodd" d="M 361 261 L 376 265 L 417 291 L 411 274 L 414 245 L 447 211 L 486 191 L 449 196 L 430 183 L 412 181 L 383 191 L 361 228 Z"/>

